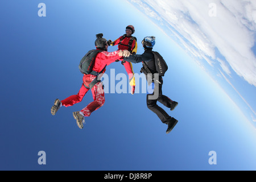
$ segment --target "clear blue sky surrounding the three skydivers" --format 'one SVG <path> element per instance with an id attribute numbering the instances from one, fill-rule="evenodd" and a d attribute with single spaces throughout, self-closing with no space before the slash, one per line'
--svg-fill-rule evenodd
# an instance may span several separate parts
<path id="1" fill-rule="evenodd" d="M 41 2 L 46 17 L 38 16 Z M 134 5 L 45 0 L 1 1 L 0 7 L 1 170 L 255 170 L 255 129 L 235 97 Z M 79 91 L 78 64 L 94 49 L 95 35 L 115 40 L 128 24 L 135 27 L 138 53 L 144 36 L 156 36 L 154 49 L 169 67 L 163 93 L 179 102 L 174 111 L 164 108 L 179 120 L 175 129 L 165 133 L 143 93 L 106 94 L 83 130 L 72 112 L 92 101 L 90 92 L 52 116 L 55 98 Z M 133 67 L 139 73 L 141 64 Z M 120 63 L 109 65 L 106 74 L 110 69 L 125 73 Z M 255 87 L 250 90 L 243 97 L 252 105 Z M 46 152 L 46 165 L 38 164 L 39 151 Z M 209 151 L 216 151 L 216 165 L 208 163 Z"/>

